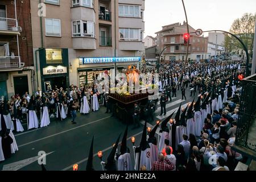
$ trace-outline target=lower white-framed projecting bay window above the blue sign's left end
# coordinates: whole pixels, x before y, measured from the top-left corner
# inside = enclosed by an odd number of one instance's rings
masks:
[[[76,20],[72,22],[73,37],[86,36],[94,38],[94,22]]]

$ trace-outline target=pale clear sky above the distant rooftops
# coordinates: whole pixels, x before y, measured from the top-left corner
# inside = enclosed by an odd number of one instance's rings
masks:
[[[235,19],[245,13],[256,13],[256,0],[184,0],[184,3],[188,24],[203,31],[229,31]],[[162,30],[162,26],[183,23],[184,20],[181,0],[146,0],[144,37],[155,37],[155,32]]]

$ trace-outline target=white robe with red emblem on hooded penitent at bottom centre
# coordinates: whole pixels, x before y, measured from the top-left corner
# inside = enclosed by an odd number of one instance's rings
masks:
[[[142,166],[146,166],[146,171],[151,170],[151,163],[150,163],[150,148],[146,148],[146,150],[141,151],[141,160],[139,162],[139,152],[136,154],[136,164],[135,170],[139,171]]]

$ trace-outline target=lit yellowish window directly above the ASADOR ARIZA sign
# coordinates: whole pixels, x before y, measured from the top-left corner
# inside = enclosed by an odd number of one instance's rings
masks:
[[[61,49],[46,49],[46,64],[62,63]]]

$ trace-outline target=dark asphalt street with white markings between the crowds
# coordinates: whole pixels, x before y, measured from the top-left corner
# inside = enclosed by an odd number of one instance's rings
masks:
[[[167,103],[167,115],[171,114],[179,107],[180,103],[186,105],[192,101],[189,97],[189,88],[186,90],[187,101],[181,100],[181,92],[177,91],[177,98]],[[159,105],[158,105],[159,107]],[[155,120],[159,117],[160,110],[155,112]],[[94,135],[94,168],[102,170],[100,159],[97,158],[97,151],[103,151],[103,159],[109,155],[112,144],[120,133],[125,130],[125,124],[118,119],[111,117],[111,114],[105,114],[105,108],[101,106],[99,111],[88,115],[77,114],[77,124],[73,125],[71,119],[65,119],[63,122],[51,121],[51,125],[46,128],[24,131],[15,135],[19,151],[11,156],[10,159],[0,163],[0,169],[8,170],[41,170],[36,156],[39,151],[45,151],[47,170],[72,170],[73,164],[79,164],[80,170],[85,170],[90,148],[90,142]],[[142,121],[143,123],[143,121]],[[149,123],[149,126],[155,123]],[[138,146],[141,141],[143,125],[138,129],[129,127],[127,136],[127,145],[130,148],[131,159],[134,163],[134,155],[131,137],[136,137],[135,144]],[[22,161],[23,160],[23,161]],[[22,161],[22,162],[20,162]],[[18,162],[19,164],[17,164]]]

